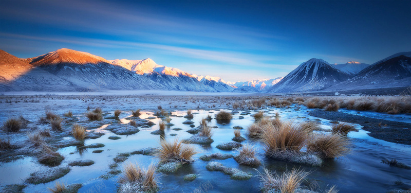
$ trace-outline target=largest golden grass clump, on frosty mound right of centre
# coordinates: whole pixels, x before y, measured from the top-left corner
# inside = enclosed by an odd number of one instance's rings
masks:
[[[262,130],[261,139],[267,154],[300,151],[309,139],[308,132],[292,121],[283,122],[279,127],[266,125],[262,127]]]

